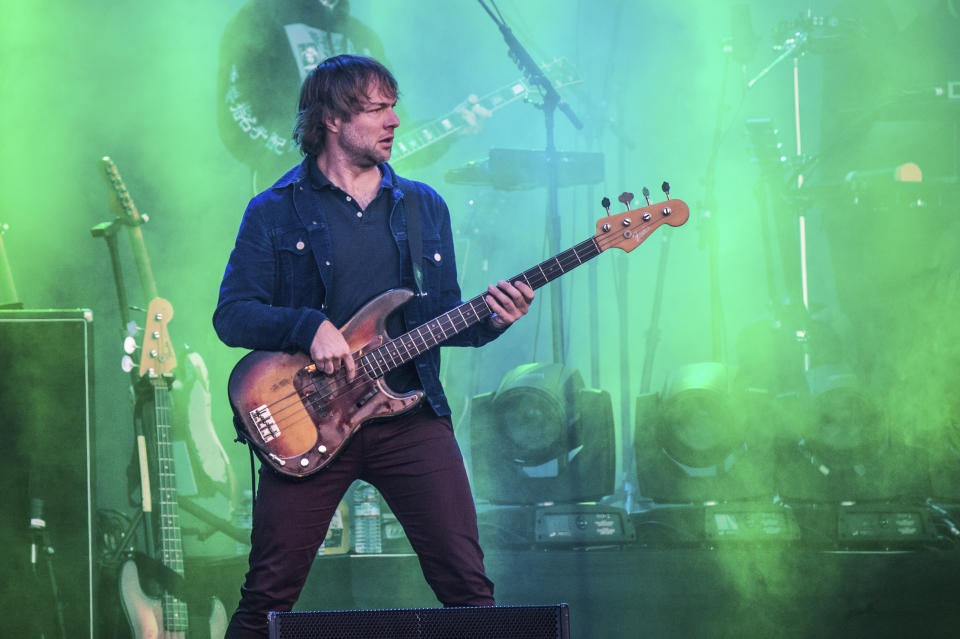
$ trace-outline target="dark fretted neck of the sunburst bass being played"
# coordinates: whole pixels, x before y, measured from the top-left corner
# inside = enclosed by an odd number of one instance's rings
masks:
[[[601,250],[596,238],[591,237],[573,248],[540,262],[508,281],[522,281],[536,290],[595,258],[601,253]],[[382,377],[421,353],[486,319],[491,312],[485,295],[478,295],[469,302],[464,302],[443,315],[370,351],[360,358],[360,363],[371,377]]]

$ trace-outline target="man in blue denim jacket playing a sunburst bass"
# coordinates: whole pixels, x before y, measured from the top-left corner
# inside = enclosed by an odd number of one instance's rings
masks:
[[[317,66],[301,88],[294,132],[305,159],[250,202],[227,264],[213,318],[220,338],[230,346],[283,352],[267,353],[266,361],[276,355],[307,364],[298,364],[299,373],[290,378],[280,375],[271,389],[289,390],[284,397],[297,400],[297,410],[347,433],[329,447],[323,443],[327,434],[320,433],[321,443],[311,443],[312,456],[300,455],[295,463],[254,446],[265,463],[250,567],[228,638],[266,637],[267,612],[291,609],[336,507],[356,479],[381,492],[441,603],[494,603],[440,384],[439,349],[397,353],[401,364],[381,370],[361,357],[365,342],[350,343],[356,341],[351,335],[370,333],[351,332],[365,322],[397,335],[461,304],[446,204],[387,164],[399,125],[396,99],[396,80],[372,58],[340,55]],[[402,308],[380,304],[371,310],[376,303],[368,302],[394,289],[414,295]],[[484,296],[489,317],[449,340],[427,328],[436,341],[480,346],[526,314],[533,297],[525,283],[500,281]],[[237,409],[242,402],[234,394],[244,395],[246,380],[237,369],[234,378],[231,401]],[[311,397],[320,397],[323,407]],[[371,406],[380,406],[379,412],[368,411]],[[254,409],[237,413],[241,421],[256,418],[252,430],[261,435],[259,444],[300,428],[290,424],[286,430],[285,407],[273,413],[267,404]],[[377,419],[367,420],[369,414]]]

